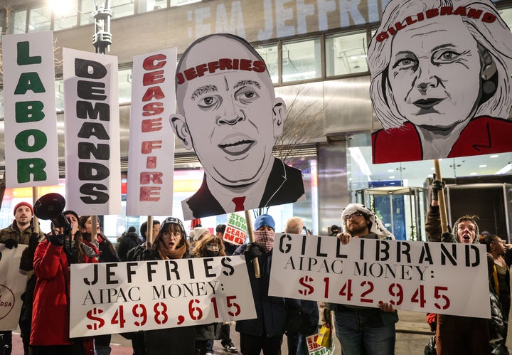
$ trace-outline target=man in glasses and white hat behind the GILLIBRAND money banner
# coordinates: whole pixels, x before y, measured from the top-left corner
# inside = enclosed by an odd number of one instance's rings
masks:
[[[395,239],[378,216],[360,203],[350,203],[341,213],[343,232],[337,237],[346,244],[351,238]],[[398,314],[388,303],[376,307],[348,304],[334,306],[336,337],[343,355],[395,354],[395,322]]]

